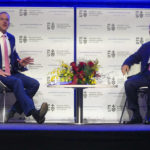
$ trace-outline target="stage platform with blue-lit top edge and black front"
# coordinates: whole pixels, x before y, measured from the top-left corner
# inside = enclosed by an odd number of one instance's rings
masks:
[[[150,147],[150,125],[0,124],[0,150],[134,150]]]

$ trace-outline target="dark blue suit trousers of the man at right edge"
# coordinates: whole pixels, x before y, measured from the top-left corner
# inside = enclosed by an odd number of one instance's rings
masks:
[[[128,102],[128,108],[138,110],[138,89],[143,86],[150,87],[150,79],[144,73],[129,77],[125,82],[125,92]],[[150,90],[148,90],[147,108],[150,110]]]

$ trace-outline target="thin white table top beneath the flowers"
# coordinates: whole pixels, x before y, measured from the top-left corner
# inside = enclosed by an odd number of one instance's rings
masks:
[[[97,84],[97,85],[81,85],[81,84],[73,84],[73,85],[47,85],[50,88],[114,88],[116,86],[106,85],[106,84]]]

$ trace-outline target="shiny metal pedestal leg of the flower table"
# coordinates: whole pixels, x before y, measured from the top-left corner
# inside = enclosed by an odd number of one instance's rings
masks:
[[[83,88],[76,89],[76,116],[75,123],[83,123]]]

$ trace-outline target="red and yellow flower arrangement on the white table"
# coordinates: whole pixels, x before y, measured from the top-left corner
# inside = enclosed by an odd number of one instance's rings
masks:
[[[98,73],[98,60],[70,63],[70,66],[61,63],[60,67],[50,73],[49,81],[69,84],[96,84],[96,78],[100,77]]]

